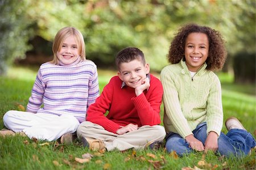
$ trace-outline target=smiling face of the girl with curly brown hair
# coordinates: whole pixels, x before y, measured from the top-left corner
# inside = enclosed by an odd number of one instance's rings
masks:
[[[185,42],[185,62],[189,71],[197,72],[207,60],[209,40],[206,34],[193,32]]]

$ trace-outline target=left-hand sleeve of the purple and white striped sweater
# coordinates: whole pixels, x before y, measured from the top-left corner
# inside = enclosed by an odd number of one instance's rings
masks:
[[[36,113],[40,109],[43,103],[44,89],[46,84],[42,80],[42,73],[39,69],[38,74],[36,75],[36,80],[32,88],[31,96],[28,99],[27,111],[31,113]]]

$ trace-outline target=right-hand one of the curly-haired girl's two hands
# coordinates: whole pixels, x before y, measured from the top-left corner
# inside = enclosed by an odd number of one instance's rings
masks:
[[[207,153],[208,150],[212,150],[213,152],[216,152],[218,149],[218,135],[216,132],[210,131],[209,135],[207,136],[207,139],[205,140],[205,150],[204,152]]]

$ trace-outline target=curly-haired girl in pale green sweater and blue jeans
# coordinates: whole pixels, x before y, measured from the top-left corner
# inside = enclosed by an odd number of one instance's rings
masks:
[[[220,32],[187,24],[170,45],[168,61],[162,69],[166,149],[178,155],[193,150],[212,150],[221,155],[247,155],[255,146],[253,136],[237,118],[223,122],[221,84],[212,71],[225,63],[226,50]]]

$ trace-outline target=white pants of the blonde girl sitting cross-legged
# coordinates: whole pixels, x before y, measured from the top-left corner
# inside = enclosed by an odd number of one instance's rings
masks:
[[[10,110],[3,115],[4,125],[14,132],[23,131],[28,138],[57,140],[67,132],[75,132],[79,121],[71,115],[52,115]]]

